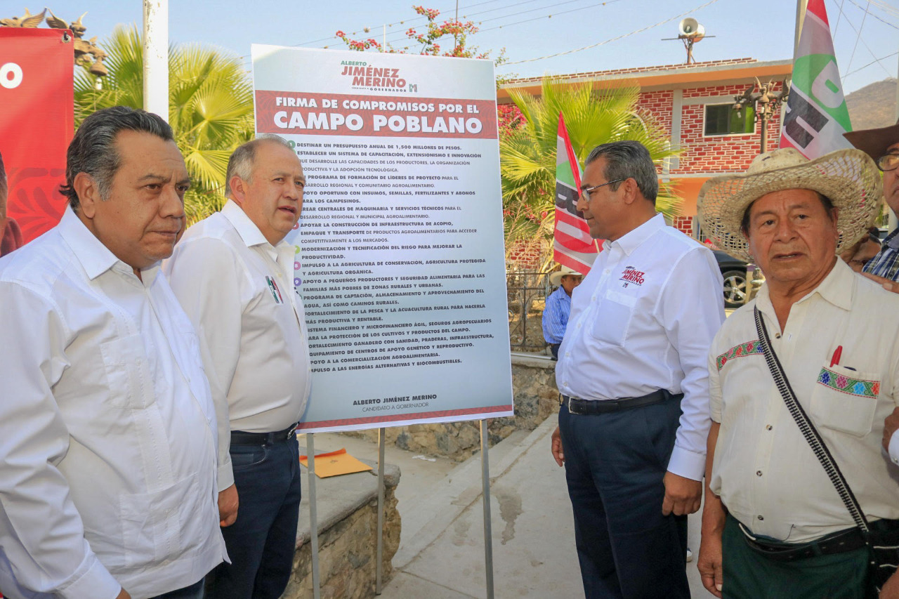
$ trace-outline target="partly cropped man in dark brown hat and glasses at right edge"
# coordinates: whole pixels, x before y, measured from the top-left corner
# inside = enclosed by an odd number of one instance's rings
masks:
[[[843,137],[877,161],[884,173],[884,199],[890,210],[899,215],[899,121],[892,127],[843,133]],[[864,273],[883,283],[890,291],[899,292],[899,229],[884,240],[880,253],[865,264]]]

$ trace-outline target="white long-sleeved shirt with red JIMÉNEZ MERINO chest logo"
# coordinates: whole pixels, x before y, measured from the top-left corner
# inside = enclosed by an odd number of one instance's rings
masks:
[[[708,248],[656,214],[607,242],[574,288],[556,365],[556,385],[574,398],[683,393],[668,470],[693,480],[706,467],[706,360],[725,318],[722,288]]]

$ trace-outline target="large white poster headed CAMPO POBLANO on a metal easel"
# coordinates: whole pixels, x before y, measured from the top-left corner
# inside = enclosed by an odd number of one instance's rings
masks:
[[[254,45],[307,186],[294,285],[324,432],[512,416],[494,64]]]

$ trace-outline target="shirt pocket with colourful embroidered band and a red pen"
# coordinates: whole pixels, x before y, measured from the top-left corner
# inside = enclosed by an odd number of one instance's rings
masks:
[[[863,437],[871,432],[880,380],[843,366],[822,367],[812,390],[811,415],[816,425]]]

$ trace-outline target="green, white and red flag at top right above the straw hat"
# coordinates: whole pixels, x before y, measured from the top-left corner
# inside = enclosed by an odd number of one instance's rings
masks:
[[[827,9],[824,0],[809,0],[793,57],[793,85],[780,128],[780,148],[796,148],[814,160],[851,148],[842,136],[851,130]]]

